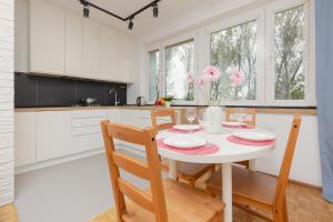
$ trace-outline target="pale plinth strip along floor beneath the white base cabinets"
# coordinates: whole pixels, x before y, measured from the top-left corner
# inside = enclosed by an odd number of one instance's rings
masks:
[[[14,169],[14,174],[26,173],[26,172],[29,172],[32,170],[38,170],[38,169],[42,169],[42,168],[47,168],[47,167],[51,167],[51,165],[65,163],[65,162],[70,162],[73,160],[79,160],[82,158],[101,154],[103,152],[104,152],[104,148],[101,148],[98,150],[91,150],[91,151],[87,151],[87,152],[82,152],[82,153],[77,153],[77,154],[65,155],[65,157],[51,159],[51,160],[47,160],[47,161],[41,161],[41,162],[32,163],[29,165],[17,167]]]

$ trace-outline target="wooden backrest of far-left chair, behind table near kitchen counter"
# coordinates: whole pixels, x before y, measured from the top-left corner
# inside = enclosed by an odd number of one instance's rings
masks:
[[[158,123],[159,118],[170,118],[170,122]],[[172,109],[168,110],[152,110],[151,111],[151,123],[152,127],[157,130],[167,130],[176,124],[175,122],[175,112]]]

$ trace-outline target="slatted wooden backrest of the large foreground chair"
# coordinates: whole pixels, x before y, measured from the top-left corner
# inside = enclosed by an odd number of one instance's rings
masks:
[[[124,195],[127,195],[134,203],[154,213],[155,221],[167,222],[168,215],[155,141],[155,130],[152,128],[138,129],[130,125],[110,123],[108,120],[102,121],[101,127],[118,221],[123,221],[122,219],[128,215],[124,201]],[[114,149],[113,139],[144,147],[147,163],[119,153]],[[141,189],[121,178],[119,168],[150,181],[151,195],[148,195]]]

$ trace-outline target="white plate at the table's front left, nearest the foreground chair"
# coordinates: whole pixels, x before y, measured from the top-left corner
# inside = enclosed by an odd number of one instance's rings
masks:
[[[163,140],[167,145],[189,149],[204,145],[206,143],[203,138],[194,138],[194,137],[171,137]]]

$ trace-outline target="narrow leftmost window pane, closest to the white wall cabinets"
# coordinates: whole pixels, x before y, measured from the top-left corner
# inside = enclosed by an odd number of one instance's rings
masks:
[[[149,70],[150,70],[150,101],[155,101],[159,97],[160,85],[160,50],[149,52]]]

